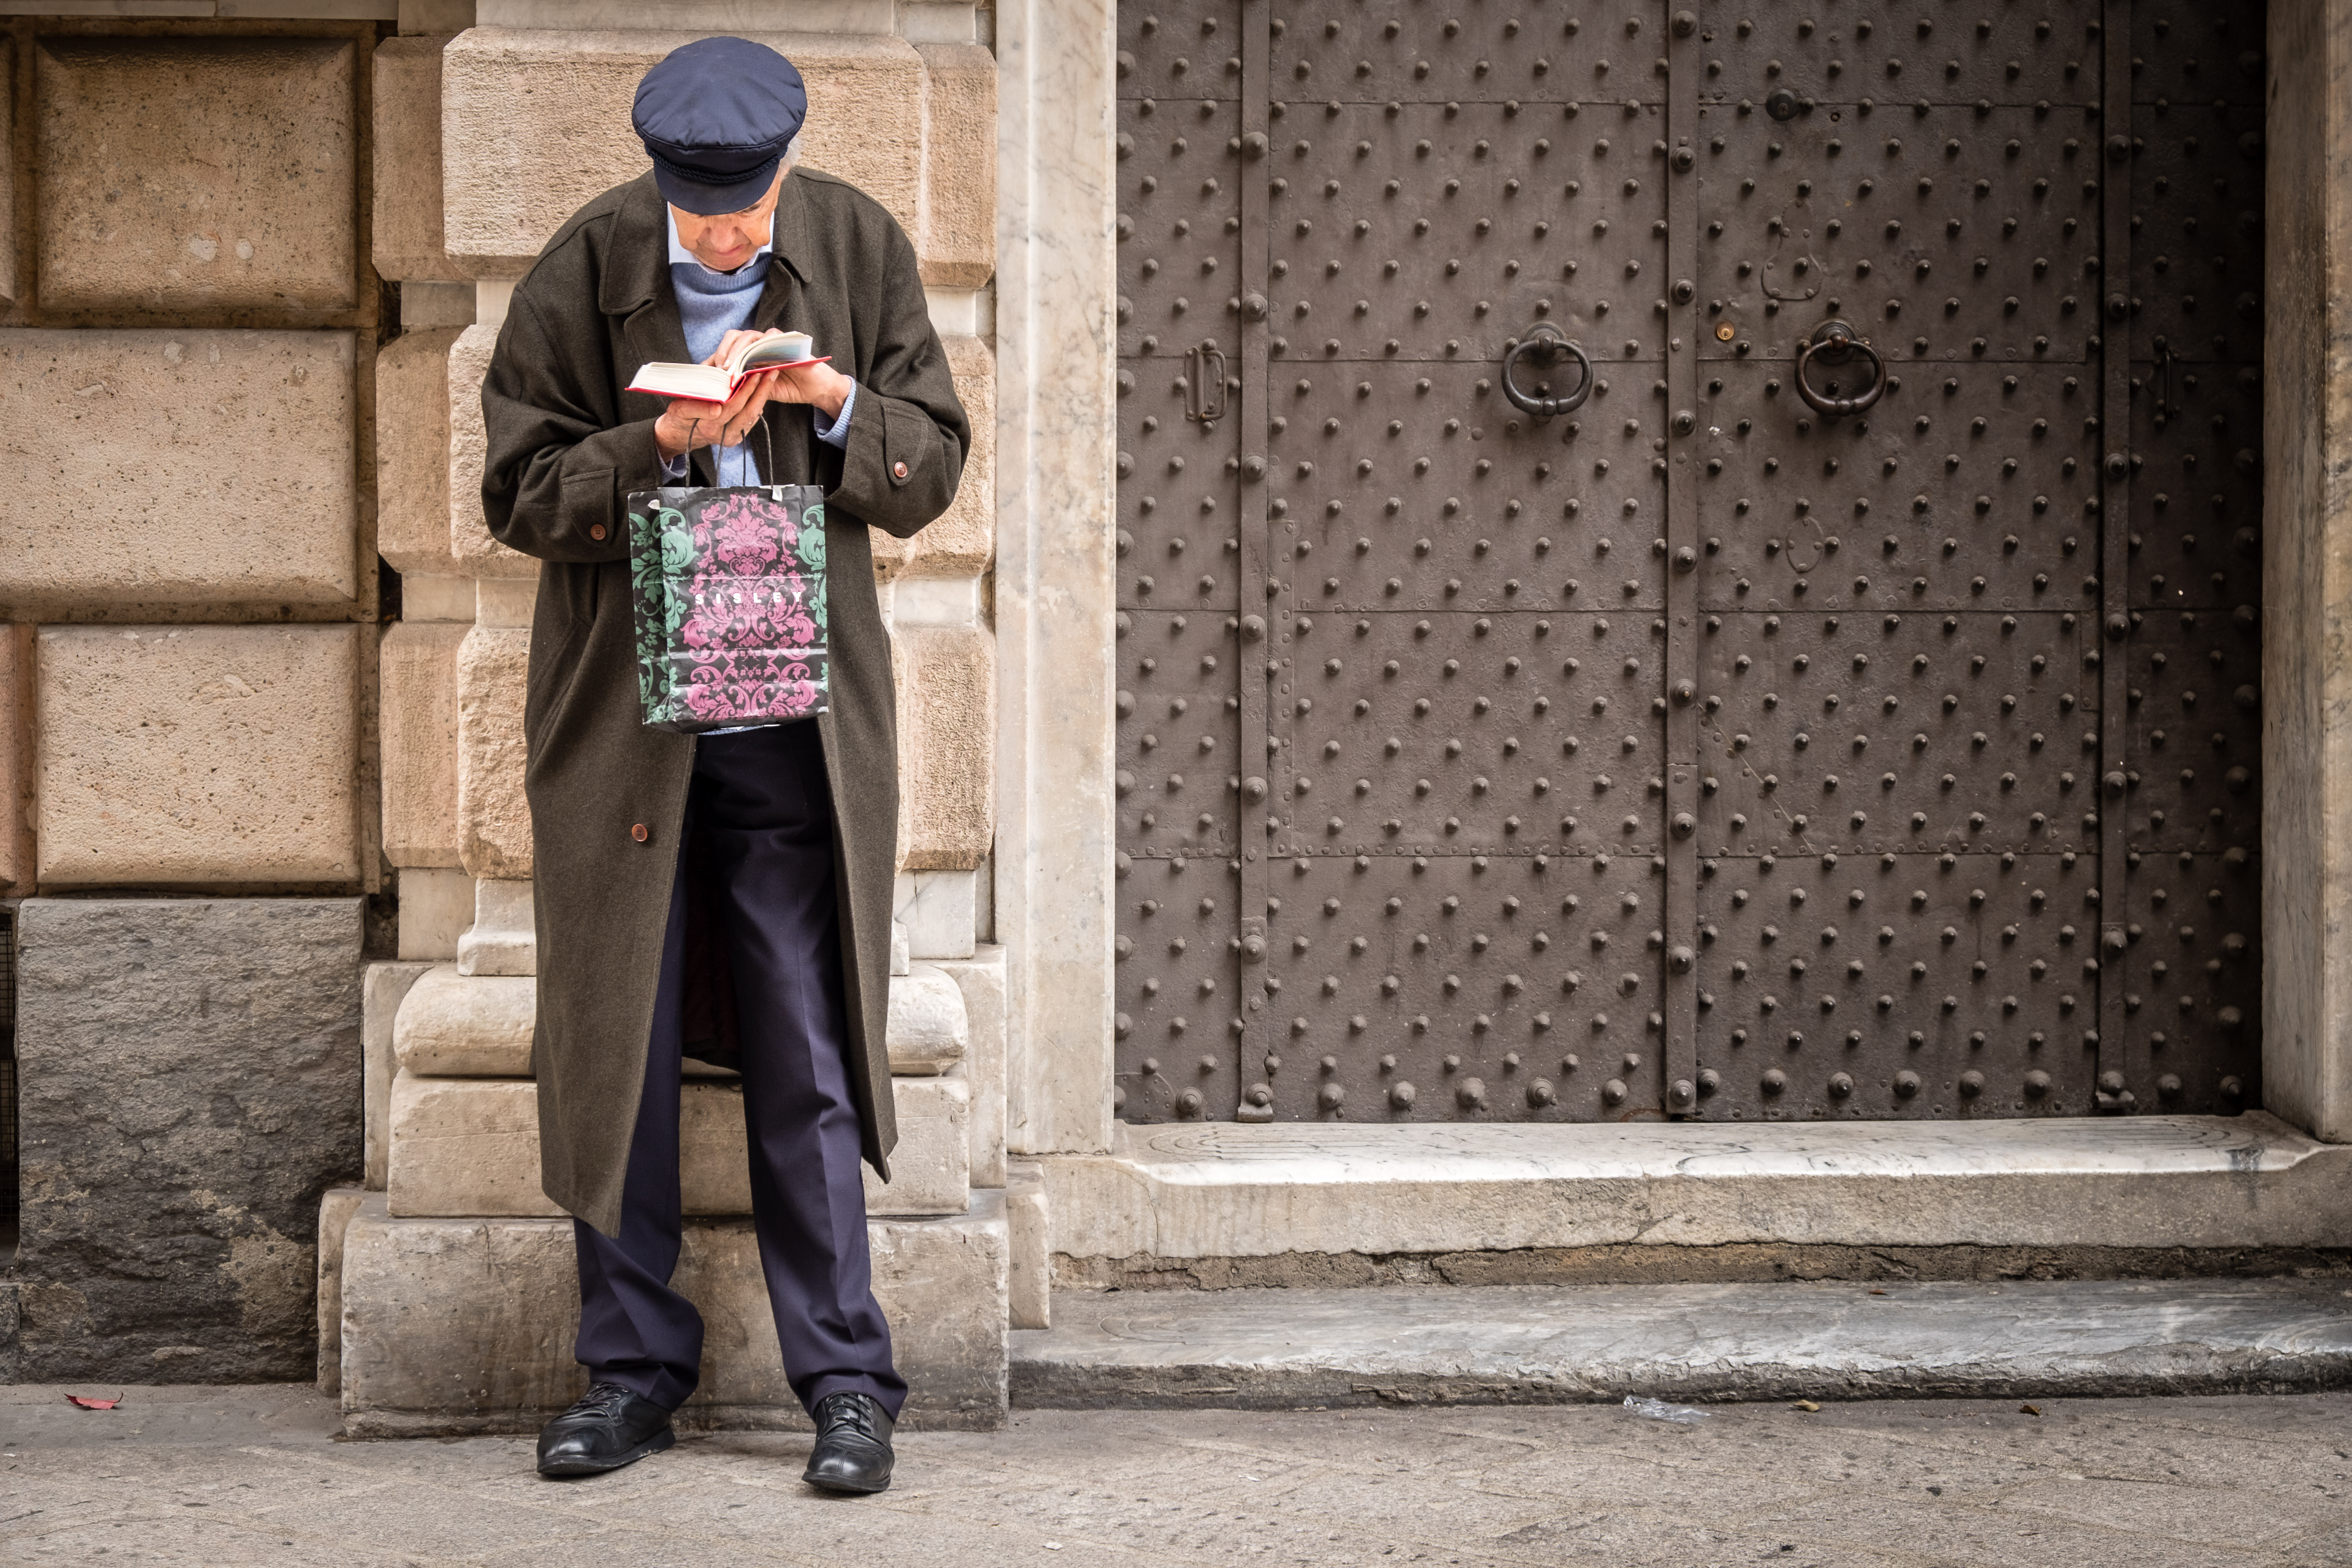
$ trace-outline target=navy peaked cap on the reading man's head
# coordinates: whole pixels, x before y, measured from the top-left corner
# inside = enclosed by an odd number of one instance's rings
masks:
[[[807,113],[793,61],[748,38],[699,38],[644,73],[630,122],[663,200],[710,216],[767,195]]]

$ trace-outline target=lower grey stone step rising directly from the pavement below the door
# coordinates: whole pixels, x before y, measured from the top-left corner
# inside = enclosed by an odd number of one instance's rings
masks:
[[[2058,1399],[2352,1387],[2352,1279],[1054,1295],[1028,1408]]]

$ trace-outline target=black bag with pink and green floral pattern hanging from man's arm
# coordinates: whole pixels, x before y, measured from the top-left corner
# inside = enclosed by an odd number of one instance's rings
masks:
[[[654,729],[826,710],[826,491],[675,487],[628,498],[637,691]]]

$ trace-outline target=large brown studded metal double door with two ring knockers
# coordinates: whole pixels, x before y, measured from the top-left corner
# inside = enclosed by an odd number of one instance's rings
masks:
[[[1122,1117],[2253,1103],[2258,9],[1120,31]]]

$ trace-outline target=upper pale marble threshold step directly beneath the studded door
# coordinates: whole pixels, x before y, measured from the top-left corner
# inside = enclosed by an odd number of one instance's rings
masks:
[[[2110,1255],[2110,1267],[2093,1260],[2065,1267],[2067,1274],[2166,1272],[2126,1262],[2119,1248],[2209,1255],[2352,1248],[2352,1145],[2317,1143],[2265,1112],[1566,1126],[1120,1124],[1108,1152],[1044,1157],[1040,1178],[1056,1288],[1435,1284],[1430,1274],[1367,1274],[1364,1265],[1573,1248],[1618,1248],[1658,1262],[1682,1253],[1684,1265],[1700,1248],[1755,1246]],[[2176,1272],[2265,1274],[2303,1262]],[[1606,1276],[1484,1269],[1449,1279],[1668,1284],[1738,1274],[1628,1265]]]

